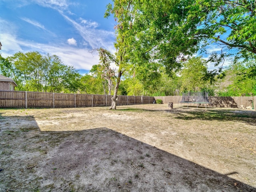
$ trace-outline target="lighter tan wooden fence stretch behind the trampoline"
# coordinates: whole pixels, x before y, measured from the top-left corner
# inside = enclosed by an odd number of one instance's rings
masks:
[[[193,104],[184,104],[180,103],[182,96],[155,96],[155,99],[162,99],[164,104],[168,102],[173,102],[173,104],[180,105],[193,105]],[[241,105],[247,107],[252,106],[252,100],[254,104],[254,109],[256,110],[256,96],[250,97],[208,97],[208,100],[211,104],[208,106],[212,107],[224,107],[224,108],[240,108]],[[204,105],[204,104],[202,104]]]

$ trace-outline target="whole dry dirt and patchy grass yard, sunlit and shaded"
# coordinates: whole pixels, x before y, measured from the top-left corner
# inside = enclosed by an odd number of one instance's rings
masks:
[[[0,192],[256,191],[256,111],[0,109]]]

